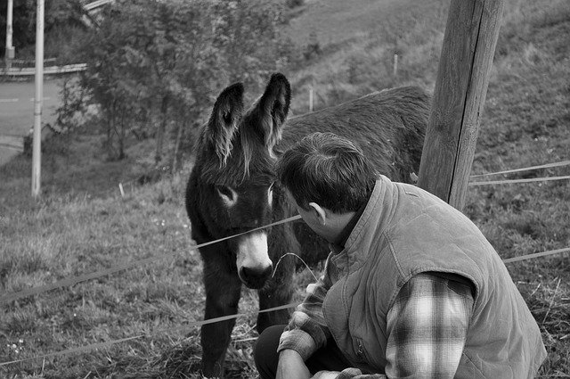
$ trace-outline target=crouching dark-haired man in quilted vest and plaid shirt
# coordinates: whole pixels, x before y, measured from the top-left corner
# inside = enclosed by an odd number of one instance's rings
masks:
[[[546,357],[538,325],[460,211],[377,176],[358,147],[332,134],[302,139],[277,173],[331,253],[289,325],[260,335],[262,378],[536,374]]]

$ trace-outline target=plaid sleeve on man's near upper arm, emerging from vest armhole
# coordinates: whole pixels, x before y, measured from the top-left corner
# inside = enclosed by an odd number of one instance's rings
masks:
[[[452,378],[472,308],[468,284],[432,274],[413,276],[387,314],[387,377]]]

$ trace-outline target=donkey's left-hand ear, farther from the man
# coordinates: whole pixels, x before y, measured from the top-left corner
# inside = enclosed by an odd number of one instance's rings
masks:
[[[232,138],[243,113],[243,84],[235,83],[217,96],[208,120],[209,141],[223,166],[232,151]]]

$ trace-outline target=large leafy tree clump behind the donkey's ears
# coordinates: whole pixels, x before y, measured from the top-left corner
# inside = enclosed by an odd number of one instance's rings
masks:
[[[156,137],[157,165],[169,129],[176,128],[172,150],[180,151],[214,89],[236,80],[258,86],[287,64],[280,22],[278,6],[246,0],[110,7],[85,43],[82,80],[102,110],[110,158],[124,158],[127,131]]]

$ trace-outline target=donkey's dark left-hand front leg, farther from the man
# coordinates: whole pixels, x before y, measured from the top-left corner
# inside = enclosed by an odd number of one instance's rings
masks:
[[[234,315],[238,312],[241,282],[235,273],[205,271],[206,314],[204,319]],[[224,376],[225,352],[230,343],[235,318],[202,325],[202,374]]]

